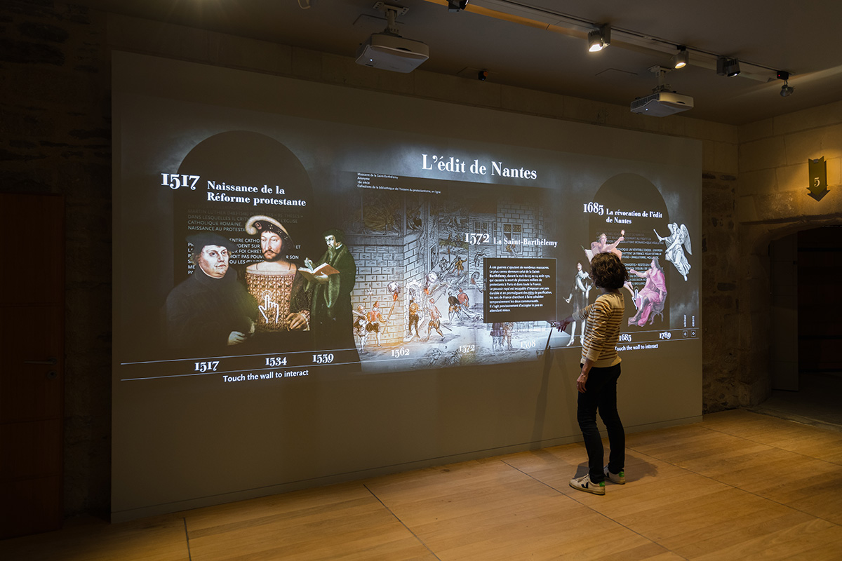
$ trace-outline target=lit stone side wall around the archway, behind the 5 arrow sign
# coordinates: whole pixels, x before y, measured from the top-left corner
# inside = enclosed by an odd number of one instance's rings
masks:
[[[739,405],[770,393],[770,241],[798,230],[842,224],[842,102],[739,127]],[[810,197],[808,163],[824,157],[829,193]]]

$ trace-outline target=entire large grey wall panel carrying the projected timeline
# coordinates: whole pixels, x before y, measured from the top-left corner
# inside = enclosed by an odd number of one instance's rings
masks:
[[[569,441],[582,325],[548,322],[600,251],[626,425],[701,415],[698,143],[119,52],[114,82],[115,518]]]

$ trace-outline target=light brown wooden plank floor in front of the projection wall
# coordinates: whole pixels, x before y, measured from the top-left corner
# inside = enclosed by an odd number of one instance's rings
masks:
[[[582,444],[0,542],[4,561],[840,559],[842,432],[745,410],[630,434],[625,486]]]

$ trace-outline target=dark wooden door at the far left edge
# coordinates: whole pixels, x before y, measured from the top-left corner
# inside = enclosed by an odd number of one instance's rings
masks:
[[[0,539],[61,527],[64,199],[0,193]]]

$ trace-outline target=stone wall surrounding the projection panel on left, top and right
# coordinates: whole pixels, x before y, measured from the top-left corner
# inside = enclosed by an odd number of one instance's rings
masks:
[[[738,128],[727,124],[653,119],[627,107],[420,70],[371,71],[349,57],[50,0],[4,0],[0,30],[0,189],[67,198],[68,515],[109,511],[109,48],[701,140],[706,411],[756,403],[768,393],[758,344],[768,329],[764,244],[787,227],[832,222],[839,213],[838,204],[834,217],[817,210],[831,207],[833,191],[813,204],[795,187],[802,160],[821,155],[811,142],[818,151],[836,147],[829,175],[839,185],[838,127],[815,113],[742,127],[738,151]],[[840,107],[828,110],[838,116]]]

